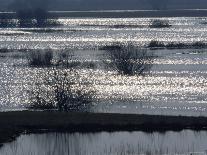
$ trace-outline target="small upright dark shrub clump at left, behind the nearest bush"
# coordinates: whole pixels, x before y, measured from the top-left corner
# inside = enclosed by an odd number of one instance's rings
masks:
[[[52,65],[53,52],[51,50],[33,50],[28,52],[28,63],[33,67],[48,67]]]

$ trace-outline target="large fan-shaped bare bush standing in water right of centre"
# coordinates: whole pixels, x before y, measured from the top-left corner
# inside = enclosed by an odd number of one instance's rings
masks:
[[[127,45],[115,44],[103,49],[106,49],[109,56],[107,64],[115,68],[120,74],[143,75],[152,67],[153,53],[132,43]]]

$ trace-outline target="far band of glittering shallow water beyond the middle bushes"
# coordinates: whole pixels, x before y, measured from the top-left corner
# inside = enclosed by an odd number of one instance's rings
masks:
[[[149,28],[154,19],[168,20],[170,28]],[[207,18],[62,18],[59,27],[0,29],[0,47],[12,49],[94,48],[111,42],[146,44],[207,41]],[[38,33],[42,31],[42,33]]]

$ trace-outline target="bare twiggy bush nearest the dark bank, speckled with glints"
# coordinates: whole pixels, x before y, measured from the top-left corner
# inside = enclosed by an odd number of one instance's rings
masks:
[[[85,111],[91,106],[94,90],[79,83],[73,70],[53,69],[46,74],[44,83],[36,85],[31,92],[29,109],[59,111]]]

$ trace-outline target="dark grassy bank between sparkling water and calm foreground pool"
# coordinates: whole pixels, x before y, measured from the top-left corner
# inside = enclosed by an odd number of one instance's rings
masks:
[[[99,132],[146,131],[164,132],[183,129],[206,130],[207,117],[150,116],[135,114],[2,112],[0,144],[27,131],[36,132]]]

